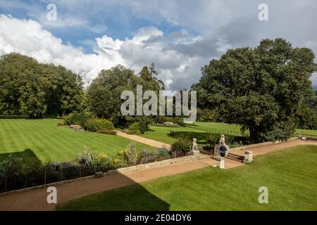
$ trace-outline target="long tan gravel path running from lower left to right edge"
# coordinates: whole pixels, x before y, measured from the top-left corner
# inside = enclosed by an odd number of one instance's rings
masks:
[[[270,153],[274,150],[281,150],[292,146],[315,145],[317,141],[290,141],[271,146],[262,146],[251,148],[254,155]],[[235,153],[242,155],[244,150]],[[85,195],[107,191],[113,188],[119,188],[130,184],[140,183],[163,176],[171,176],[183,172],[189,172],[194,169],[201,169],[208,166],[216,165],[216,160],[212,160],[209,155],[201,155],[201,160],[190,162],[179,162],[172,165],[163,165],[151,169],[142,169],[137,172],[127,172],[125,174],[111,174],[101,178],[77,180],[71,183],[60,184],[57,188],[57,201],[64,203],[68,200],[80,198]],[[230,169],[243,165],[240,162],[225,159],[225,167]],[[46,188],[40,188],[23,193],[14,193],[0,197],[0,210],[55,210],[55,204],[46,202]]]

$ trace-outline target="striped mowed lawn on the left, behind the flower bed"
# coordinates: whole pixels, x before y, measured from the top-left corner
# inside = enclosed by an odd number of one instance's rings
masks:
[[[68,127],[58,127],[58,119],[0,119],[0,160],[8,153],[20,157],[35,156],[42,161],[73,160],[89,147],[92,152],[111,155],[126,148],[130,140],[120,136],[80,133]],[[136,142],[137,150],[151,148]],[[30,149],[30,150],[27,150]]]

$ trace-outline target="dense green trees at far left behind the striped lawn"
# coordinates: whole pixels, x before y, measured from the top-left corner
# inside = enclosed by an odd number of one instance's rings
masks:
[[[80,109],[82,78],[62,66],[10,53],[0,58],[0,114],[62,115]]]

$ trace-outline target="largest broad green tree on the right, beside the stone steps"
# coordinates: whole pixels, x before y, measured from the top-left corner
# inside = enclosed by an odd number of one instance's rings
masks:
[[[224,122],[249,129],[254,141],[287,139],[294,117],[313,94],[311,49],[285,39],[264,39],[256,48],[227,51],[201,69],[198,105],[216,109]]]

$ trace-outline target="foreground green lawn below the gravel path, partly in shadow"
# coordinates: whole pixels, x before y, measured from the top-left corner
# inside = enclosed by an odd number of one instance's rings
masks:
[[[57,210],[317,210],[317,146],[256,156],[250,165],[208,167],[89,195]],[[268,204],[259,204],[259,187]]]

